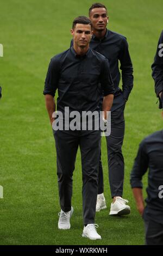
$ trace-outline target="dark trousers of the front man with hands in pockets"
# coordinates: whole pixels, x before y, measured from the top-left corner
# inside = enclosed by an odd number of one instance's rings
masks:
[[[57,175],[60,206],[71,210],[72,176],[78,147],[82,157],[83,220],[95,223],[98,192],[98,165],[101,149],[101,131],[53,131],[57,150]]]

